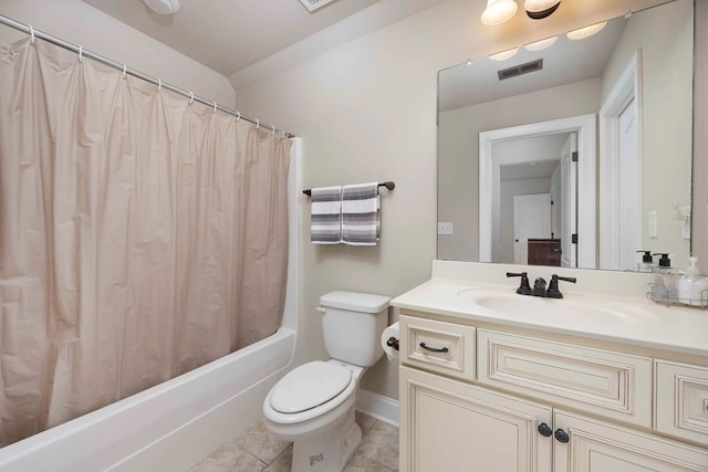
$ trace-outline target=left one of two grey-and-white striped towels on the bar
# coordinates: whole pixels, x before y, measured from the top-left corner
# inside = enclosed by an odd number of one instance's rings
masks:
[[[314,244],[342,242],[342,186],[313,188],[310,208],[310,241]]]

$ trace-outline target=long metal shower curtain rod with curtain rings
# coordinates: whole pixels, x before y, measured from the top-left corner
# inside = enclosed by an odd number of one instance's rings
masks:
[[[92,60],[94,60],[96,62],[100,62],[100,63],[102,63],[104,65],[111,66],[113,69],[117,69],[118,71],[122,71],[122,72],[124,72],[126,74],[131,74],[131,75],[133,75],[135,77],[138,77],[138,78],[142,78],[144,81],[150,82],[150,83],[153,83],[153,84],[155,84],[155,85],[157,85],[157,86],[159,86],[162,88],[167,88],[168,91],[175,92],[175,93],[177,93],[177,94],[179,94],[179,95],[181,95],[181,96],[184,96],[186,98],[189,98],[190,102],[196,101],[196,102],[199,102],[201,104],[212,106],[215,108],[215,111],[219,109],[219,111],[221,111],[223,113],[227,113],[229,115],[236,116],[237,118],[246,119],[247,122],[254,124],[257,126],[257,128],[258,127],[263,127],[263,128],[270,129],[273,133],[281,134],[287,138],[294,138],[295,137],[295,135],[293,135],[292,133],[288,133],[284,129],[277,128],[275,126],[269,125],[268,123],[263,123],[263,122],[261,122],[259,119],[251,118],[251,117],[246,116],[246,115],[241,115],[240,112],[236,112],[236,111],[233,111],[231,108],[227,108],[225,106],[221,106],[221,105],[217,104],[216,102],[210,102],[210,101],[208,101],[206,98],[197,96],[197,95],[195,95],[194,93],[191,93],[189,91],[185,91],[183,88],[179,88],[179,87],[176,87],[176,86],[170,85],[168,83],[165,83],[160,78],[155,78],[155,77],[153,77],[150,75],[147,75],[147,74],[144,74],[144,73],[142,73],[139,71],[136,71],[134,69],[131,69],[125,64],[117,63],[117,62],[112,61],[112,60],[110,60],[107,57],[104,57],[104,56],[102,56],[100,54],[93,53],[91,51],[86,51],[86,50],[83,49],[83,46],[77,46],[77,45],[67,43],[66,41],[60,40],[59,38],[52,36],[51,34],[46,34],[46,33],[44,33],[42,31],[35,30],[35,29],[32,28],[31,24],[20,23],[19,21],[14,21],[11,18],[8,18],[8,17],[2,15],[2,14],[0,14],[0,24],[4,24],[6,27],[10,27],[10,28],[14,28],[15,30],[23,31],[23,32],[28,33],[30,36],[32,36],[32,39],[39,38],[39,39],[48,41],[48,42],[50,42],[52,44],[56,44],[58,46],[64,48],[64,49],[66,49],[69,51],[75,52],[79,55],[81,55],[82,57],[92,59]]]

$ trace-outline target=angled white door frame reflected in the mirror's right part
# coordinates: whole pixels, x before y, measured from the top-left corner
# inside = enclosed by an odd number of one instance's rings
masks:
[[[633,99],[636,104],[637,129],[637,167],[642,169],[643,156],[643,106],[642,106],[642,50],[635,51],[627,62],[622,75],[607,95],[600,108],[600,269],[620,268],[620,231],[622,230],[622,214],[617,201],[620,200],[620,115]],[[638,176],[637,208],[642,208],[642,176]],[[641,211],[637,249],[642,249]]]

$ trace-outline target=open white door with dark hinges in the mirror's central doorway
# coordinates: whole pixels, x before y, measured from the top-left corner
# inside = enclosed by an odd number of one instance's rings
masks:
[[[577,266],[577,244],[573,234],[577,234],[577,162],[573,154],[577,153],[577,136],[571,133],[561,150],[561,193],[563,209],[561,216],[561,266]],[[594,214],[589,218],[595,218]],[[581,238],[582,235],[577,235]]]

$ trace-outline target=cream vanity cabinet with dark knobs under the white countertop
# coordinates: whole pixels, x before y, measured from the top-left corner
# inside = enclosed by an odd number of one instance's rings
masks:
[[[399,316],[402,472],[708,472],[708,369],[435,317]]]

